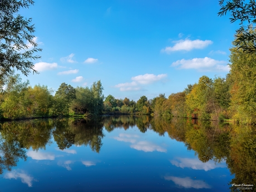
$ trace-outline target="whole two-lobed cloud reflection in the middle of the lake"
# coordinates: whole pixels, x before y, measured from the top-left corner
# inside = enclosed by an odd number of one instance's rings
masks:
[[[136,149],[139,151],[144,152],[152,152],[152,151],[159,151],[159,152],[166,152],[167,150],[163,147],[156,145],[149,141],[140,141],[139,135],[133,135],[133,134],[119,134],[118,137],[114,137],[117,141],[124,141],[124,142],[130,142],[132,145],[130,147],[132,149]]]

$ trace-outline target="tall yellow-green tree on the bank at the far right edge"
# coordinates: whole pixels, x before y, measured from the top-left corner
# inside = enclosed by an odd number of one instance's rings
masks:
[[[230,49],[231,110],[234,119],[256,123],[256,53],[244,54],[236,47]]]

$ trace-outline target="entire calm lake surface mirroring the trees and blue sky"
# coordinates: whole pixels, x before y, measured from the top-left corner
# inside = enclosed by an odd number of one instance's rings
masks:
[[[1,125],[0,191],[250,191],[254,127],[149,116]],[[253,186],[253,191],[256,189]]]

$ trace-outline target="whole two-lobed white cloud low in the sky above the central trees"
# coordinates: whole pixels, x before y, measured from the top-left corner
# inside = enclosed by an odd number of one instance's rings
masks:
[[[115,87],[120,88],[120,91],[138,91],[142,89],[140,85],[161,81],[165,77],[167,77],[166,74],[154,75],[146,73],[145,75],[131,77],[132,82],[119,83]]]

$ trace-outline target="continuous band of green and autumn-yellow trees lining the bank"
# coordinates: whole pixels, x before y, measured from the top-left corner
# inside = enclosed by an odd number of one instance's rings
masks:
[[[45,85],[29,85],[19,75],[9,77],[1,95],[1,117],[22,119],[68,115],[151,114],[191,119],[256,123],[256,53],[230,49],[230,72],[225,78],[207,76],[168,98],[141,96],[138,101],[104,97],[101,81],[91,87],[62,83],[53,91]]]

